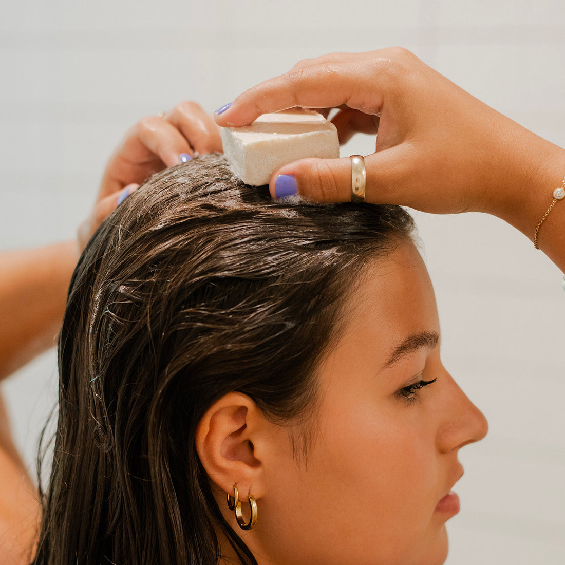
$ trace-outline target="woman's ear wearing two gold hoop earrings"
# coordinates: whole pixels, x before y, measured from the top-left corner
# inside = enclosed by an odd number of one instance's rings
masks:
[[[208,476],[224,492],[233,494],[237,483],[240,498],[263,496],[264,467],[255,444],[262,442],[269,425],[245,394],[226,394],[208,408],[198,424],[195,446]]]

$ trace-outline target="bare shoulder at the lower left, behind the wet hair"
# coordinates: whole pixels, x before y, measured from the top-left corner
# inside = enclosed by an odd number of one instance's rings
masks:
[[[12,442],[0,397],[0,563],[30,563],[37,539],[37,490]]]

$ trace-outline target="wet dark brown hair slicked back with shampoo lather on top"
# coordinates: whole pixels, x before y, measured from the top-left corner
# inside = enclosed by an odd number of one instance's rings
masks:
[[[273,202],[206,155],[158,173],[95,233],[59,339],[59,419],[34,563],[218,562],[223,519],[194,436],[238,391],[315,414],[345,290],[410,237],[396,206]]]

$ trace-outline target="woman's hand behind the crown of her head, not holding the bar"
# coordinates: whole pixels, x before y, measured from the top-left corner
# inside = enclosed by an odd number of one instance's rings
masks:
[[[86,242],[114,208],[153,173],[221,151],[219,127],[196,102],[181,102],[163,116],[147,116],[124,137],[107,164],[92,214],[79,228]]]

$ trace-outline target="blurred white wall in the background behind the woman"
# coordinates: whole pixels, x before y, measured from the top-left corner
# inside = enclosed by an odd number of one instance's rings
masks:
[[[106,159],[142,116],[189,98],[212,112],[299,59],[332,51],[407,47],[565,146],[563,0],[7,0],[2,12],[2,249],[74,237]],[[342,155],[371,153],[373,142],[362,136]],[[562,275],[497,219],[418,213],[416,221],[444,362],[490,423],[489,436],[461,453],[462,511],[449,523],[447,563],[562,564]],[[33,467],[56,401],[54,351],[2,390]]]

